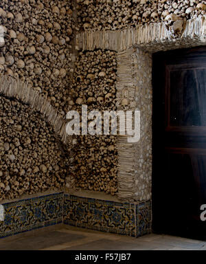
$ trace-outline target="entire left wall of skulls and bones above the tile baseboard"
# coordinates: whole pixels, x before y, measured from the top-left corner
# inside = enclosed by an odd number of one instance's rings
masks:
[[[18,80],[29,83],[38,92],[38,98],[47,100],[42,107],[52,104],[47,115],[50,109],[52,115],[58,114],[62,120],[69,111],[73,37],[78,31],[74,13],[73,1],[66,0],[2,0],[0,3],[4,34],[0,43],[1,74],[12,76],[17,83]],[[6,83],[5,79],[0,85]],[[8,90],[15,88],[16,83],[8,84]],[[1,88],[6,94],[7,87]],[[27,90],[20,94],[31,99]],[[65,149],[54,127],[47,122],[51,117],[34,110],[22,100],[0,95],[1,200],[61,190],[69,177],[69,148]]]

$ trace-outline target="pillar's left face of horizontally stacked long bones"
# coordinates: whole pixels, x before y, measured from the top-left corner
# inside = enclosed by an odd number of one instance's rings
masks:
[[[117,108],[120,109],[122,99],[135,98],[135,80],[133,72],[133,54],[135,49],[117,52]],[[126,94],[125,94],[126,93]],[[130,106],[130,108],[132,108]],[[133,107],[134,108],[134,107]],[[132,122],[132,120],[131,120]],[[118,197],[131,199],[135,195],[135,148],[128,143],[127,136],[117,136],[117,184]]]

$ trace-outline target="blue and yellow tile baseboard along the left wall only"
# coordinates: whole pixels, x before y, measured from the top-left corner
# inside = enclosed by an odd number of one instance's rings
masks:
[[[4,221],[0,221],[0,238],[62,223],[64,193],[2,203]]]

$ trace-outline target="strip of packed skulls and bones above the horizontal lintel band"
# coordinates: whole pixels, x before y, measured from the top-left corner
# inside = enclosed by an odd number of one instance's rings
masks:
[[[78,22],[84,30],[119,30],[137,24],[190,19],[205,14],[202,0],[77,0]]]

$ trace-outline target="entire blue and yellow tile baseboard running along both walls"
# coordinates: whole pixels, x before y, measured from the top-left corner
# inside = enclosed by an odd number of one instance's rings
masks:
[[[120,203],[58,192],[2,205],[0,238],[58,223],[134,237],[151,232],[151,201]]]

